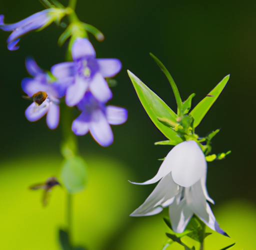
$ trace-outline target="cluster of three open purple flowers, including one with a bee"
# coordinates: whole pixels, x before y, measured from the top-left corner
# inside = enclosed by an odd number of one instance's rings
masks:
[[[90,131],[102,146],[113,141],[109,124],[121,124],[127,119],[122,107],[105,106],[112,97],[105,77],[119,72],[121,63],[114,58],[95,58],[95,50],[86,38],[77,38],[71,49],[73,61],[52,66],[50,76],[37,66],[34,60],[26,60],[27,71],[33,78],[24,78],[23,91],[33,99],[25,116],[35,121],[46,115],[46,123],[54,129],[59,122],[59,98],[65,95],[68,106],[77,106],[81,114],[73,121],[72,131],[84,135]]]

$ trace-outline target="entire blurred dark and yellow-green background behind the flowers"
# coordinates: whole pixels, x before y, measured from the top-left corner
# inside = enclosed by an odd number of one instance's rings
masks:
[[[36,0],[0,1],[6,23],[42,9]],[[255,249],[256,2],[78,0],[76,12],[80,20],[105,35],[103,42],[90,36],[97,57],[116,57],[122,62],[109,104],[126,107],[128,120],[112,126],[115,139],[107,148],[89,134],[78,138],[89,182],[75,196],[73,243],[90,250],[160,250],[167,240],[162,221],[166,210],[151,217],[128,216],[154,185],[135,186],[127,180],[151,178],[160,165],[157,159],[171,149],[153,144],[165,138],[143,110],[126,73],[132,71],[175,109],[170,85],[149,56],[152,52],[171,73],[183,100],[196,93],[193,105],[230,74],[196,129],[204,136],[221,127],[212,141],[212,152],[232,151],[225,159],[208,163],[207,176],[208,192],[216,203],[211,207],[231,238],[212,234],[205,249],[220,249],[232,242],[236,242],[233,249]],[[48,206],[42,208],[40,191],[27,187],[58,175],[61,127],[51,131],[45,118],[26,120],[29,101],[21,98],[20,82],[28,76],[27,55],[48,70],[64,60],[67,44],[57,45],[63,30],[52,23],[40,32],[28,33],[17,51],[7,50],[8,32],[0,30],[0,249],[59,249],[57,230],[65,226],[63,190],[55,188]]]

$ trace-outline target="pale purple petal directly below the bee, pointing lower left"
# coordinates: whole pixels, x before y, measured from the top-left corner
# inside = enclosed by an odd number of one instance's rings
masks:
[[[40,119],[49,109],[49,101],[46,99],[40,106],[34,102],[31,103],[25,110],[25,116],[29,121]]]

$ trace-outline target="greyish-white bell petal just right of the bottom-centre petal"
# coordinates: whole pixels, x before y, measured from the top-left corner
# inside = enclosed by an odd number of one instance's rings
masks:
[[[185,187],[185,200],[198,217],[208,221],[209,215],[206,211],[206,200],[202,191],[201,180],[190,187]]]

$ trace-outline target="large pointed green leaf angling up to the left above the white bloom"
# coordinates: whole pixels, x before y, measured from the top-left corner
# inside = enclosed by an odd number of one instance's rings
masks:
[[[132,72],[127,70],[131,82],[135,88],[138,98],[143,105],[148,116],[155,124],[155,126],[169,139],[177,141],[177,143],[182,142],[182,139],[177,135],[177,133],[162,124],[158,118],[163,118],[176,122],[177,115],[165,104],[165,102],[157,96],[151,89],[149,89],[140,79],[135,76]]]

